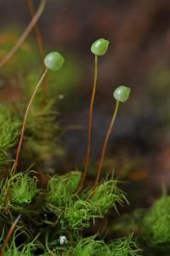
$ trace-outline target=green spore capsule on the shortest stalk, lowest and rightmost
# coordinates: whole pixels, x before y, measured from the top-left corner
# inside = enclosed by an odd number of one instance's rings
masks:
[[[115,89],[113,93],[113,97],[121,102],[125,102],[128,100],[129,94],[131,92],[131,89],[128,88],[127,86],[119,86]]]

